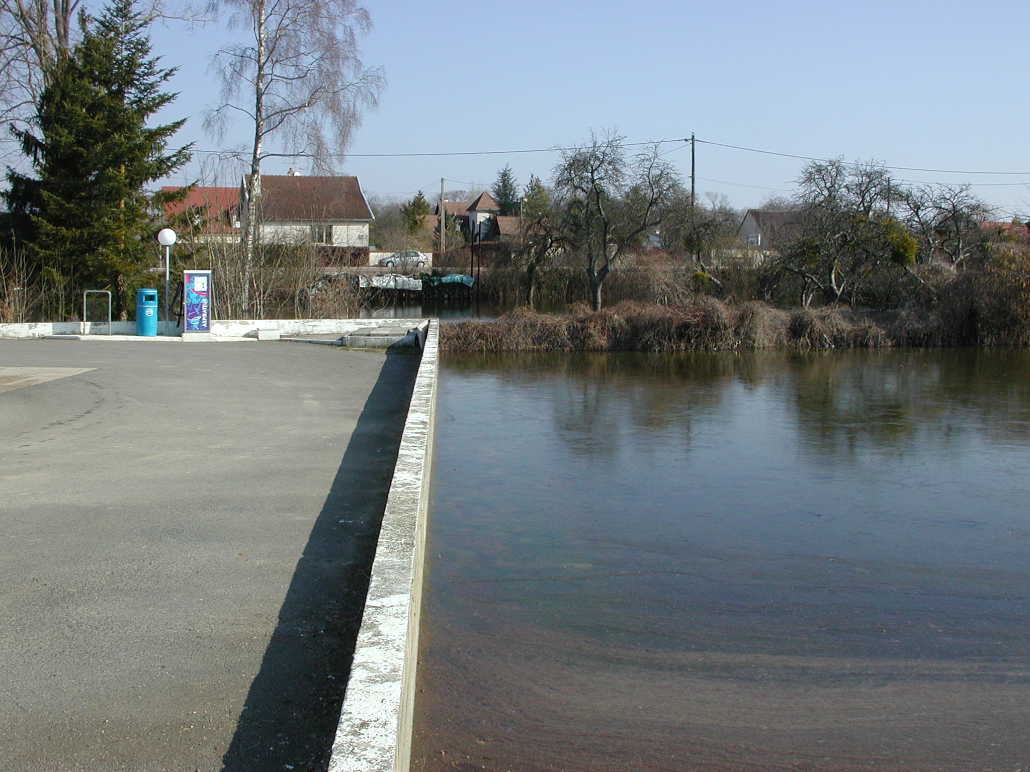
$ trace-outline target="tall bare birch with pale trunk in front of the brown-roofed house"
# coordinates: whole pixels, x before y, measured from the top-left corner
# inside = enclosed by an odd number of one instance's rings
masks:
[[[343,159],[362,110],[378,102],[381,68],[362,63],[358,37],[372,22],[355,0],[220,0],[232,11],[231,28],[246,41],[229,45],[212,59],[221,79],[221,102],[205,116],[205,128],[225,136],[234,118],[253,130],[241,219],[245,296],[260,242],[261,166],[272,156],[305,157],[318,172]],[[280,151],[269,149],[279,141]]]

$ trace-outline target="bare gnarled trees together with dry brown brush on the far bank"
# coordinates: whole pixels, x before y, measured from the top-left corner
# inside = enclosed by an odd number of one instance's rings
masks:
[[[648,157],[633,162],[633,177],[595,138],[566,153],[555,184],[523,204],[519,238],[493,246],[479,276],[483,297],[523,308],[446,325],[444,349],[1030,345],[1030,229],[992,221],[968,186],[811,162],[794,198],[763,207],[760,238],[748,244],[744,213],[718,198],[697,202],[675,179],[648,182],[639,171]],[[614,182],[594,172],[606,163]],[[565,182],[584,168],[594,182]],[[659,187],[655,203],[648,191]],[[632,248],[612,233],[634,234]],[[609,245],[600,286],[589,239]]]

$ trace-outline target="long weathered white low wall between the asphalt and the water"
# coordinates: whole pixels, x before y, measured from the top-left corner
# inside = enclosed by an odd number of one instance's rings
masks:
[[[411,764],[439,334],[434,319],[386,499],[329,772],[408,772]]]

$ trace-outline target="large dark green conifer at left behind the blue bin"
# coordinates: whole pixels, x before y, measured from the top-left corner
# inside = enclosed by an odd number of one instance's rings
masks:
[[[81,42],[40,95],[34,131],[15,132],[35,176],[8,170],[4,197],[37,271],[72,296],[111,290],[118,313],[157,257],[150,212],[168,196],[144,186],[185,164],[190,148],[166,147],[184,120],[146,125],[175,99],[162,91],[175,70],[150,58],[133,1],[114,0],[82,25]]]

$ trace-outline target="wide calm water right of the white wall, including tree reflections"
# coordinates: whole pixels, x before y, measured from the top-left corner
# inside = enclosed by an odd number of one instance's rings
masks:
[[[1030,770],[1030,355],[445,360],[413,769]]]

